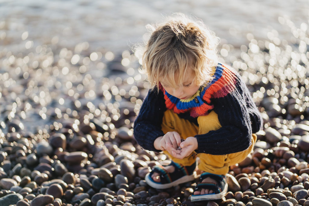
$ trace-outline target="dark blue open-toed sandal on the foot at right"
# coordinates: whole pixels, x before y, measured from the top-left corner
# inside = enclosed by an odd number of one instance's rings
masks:
[[[202,183],[203,179],[210,177],[211,179],[216,180],[218,183]],[[214,193],[211,194],[205,194],[205,195],[193,195],[195,191],[201,190],[201,189],[209,189],[214,191]],[[191,201],[201,201],[201,200],[217,200],[221,199],[225,196],[226,192],[228,190],[228,185],[226,183],[226,177],[225,175],[219,175],[219,174],[212,174],[208,172],[204,172],[201,174],[200,177],[200,183],[198,183],[193,191],[193,194],[191,195]]]

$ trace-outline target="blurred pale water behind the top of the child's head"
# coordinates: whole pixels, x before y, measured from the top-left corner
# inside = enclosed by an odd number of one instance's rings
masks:
[[[119,53],[142,40],[146,24],[182,12],[202,19],[223,43],[240,47],[248,42],[247,33],[265,39],[275,29],[280,39],[289,39],[290,28],[282,23],[289,19],[297,28],[308,23],[308,4],[307,0],[1,0],[0,46],[20,50],[30,40],[34,46],[52,43],[72,48],[88,42],[93,50]]]

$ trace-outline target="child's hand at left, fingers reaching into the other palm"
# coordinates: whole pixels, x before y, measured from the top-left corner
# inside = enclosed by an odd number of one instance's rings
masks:
[[[180,146],[181,138],[177,132],[167,132],[163,137],[158,137],[154,146],[155,149],[166,150],[167,144],[171,145],[172,148],[177,149]]]

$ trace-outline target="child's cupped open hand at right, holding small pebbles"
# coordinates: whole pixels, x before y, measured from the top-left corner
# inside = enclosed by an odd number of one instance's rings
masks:
[[[181,142],[180,148],[180,150],[177,150],[172,147],[171,144],[167,144],[166,150],[168,151],[168,153],[173,155],[173,157],[183,159],[185,157],[188,157],[195,149],[198,148],[197,138],[188,137],[185,141]]]

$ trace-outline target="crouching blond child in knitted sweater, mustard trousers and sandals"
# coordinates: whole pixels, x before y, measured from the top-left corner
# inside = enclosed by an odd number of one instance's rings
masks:
[[[203,173],[191,201],[224,197],[229,166],[252,151],[262,125],[239,74],[218,63],[217,44],[203,23],[176,14],[152,27],[142,57],[151,89],[134,122],[134,137],[142,148],[171,159],[145,180],[158,189],[191,181],[199,157]]]

